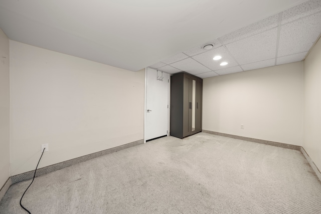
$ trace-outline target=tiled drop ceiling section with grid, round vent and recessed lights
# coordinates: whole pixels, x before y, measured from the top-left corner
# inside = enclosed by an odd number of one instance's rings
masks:
[[[311,0],[183,51],[150,68],[201,78],[302,61],[321,33],[321,1]],[[205,50],[206,44],[214,44]],[[214,61],[214,56],[222,56]],[[228,62],[220,66],[221,62]]]

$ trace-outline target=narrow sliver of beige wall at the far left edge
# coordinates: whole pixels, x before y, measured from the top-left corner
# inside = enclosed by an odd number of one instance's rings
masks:
[[[10,176],[9,39],[0,29],[0,189]]]

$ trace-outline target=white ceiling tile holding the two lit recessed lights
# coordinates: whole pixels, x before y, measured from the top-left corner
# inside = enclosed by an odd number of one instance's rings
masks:
[[[213,57],[220,55],[222,59],[220,60],[213,60]],[[231,55],[226,51],[226,49],[221,46],[219,48],[213,49],[211,51],[205,52],[203,54],[199,54],[193,57],[196,61],[200,62],[201,64],[205,65],[206,67],[210,68],[212,71],[219,70],[223,68],[229,68],[237,66],[237,62],[231,57]],[[220,66],[220,63],[227,62],[226,66]]]

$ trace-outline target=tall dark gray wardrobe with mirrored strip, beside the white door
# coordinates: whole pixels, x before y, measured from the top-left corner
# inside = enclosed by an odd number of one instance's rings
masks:
[[[178,73],[171,76],[171,136],[183,139],[202,131],[203,80]]]

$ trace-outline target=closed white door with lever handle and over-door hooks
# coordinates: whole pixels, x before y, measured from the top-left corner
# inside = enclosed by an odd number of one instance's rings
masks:
[[[145,140],[168,134],[169,74],[147,68]]]

